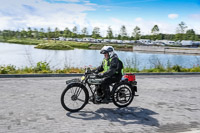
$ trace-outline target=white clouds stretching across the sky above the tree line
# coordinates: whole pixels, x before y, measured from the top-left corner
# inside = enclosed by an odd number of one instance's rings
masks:
[[[62,0],[78,2],[79,0]],[[98,6],[98,5],[97,5]],[[60,30],[68,27],[72,29],[77,26],[79,31],[87,27],[89,32],[94,27],[99,27],[101,34],[106,35],[108,26],[113,29],[114,35],[118,34],[122,25],[126,26],[127,32],[131,35],[135,26],[139,26],[142,34],[150,34],[152,27],[157,24],[161,33],[175,33],[177,23],[167,23],[166,21],[150,21],[143,18],[132,18],[123,20],[121,18],[92,19],[87,17],[87,11],[95,11],[98,8],[90,1],[80,3],[49,3],[44,0],[1,0],[0,4],[0,30],[17,30],[27,27],[45,28],[58,27]],[[109,8],[104,8],[110,11]],[[169,18],[178,18],[178,14],[169,14]],[[197,20],[197,21],[194,21]],[[200,14],[192,14],[188,21],[184,21],[188,28],[193,28],[200,33]]]

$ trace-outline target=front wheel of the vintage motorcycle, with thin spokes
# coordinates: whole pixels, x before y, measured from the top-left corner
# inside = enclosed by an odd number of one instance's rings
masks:
[[[70,112],[77,112],[83,109],[88,100],[88,90],[81,83],[69,84],[61,94],[61,105],[65,110]]]

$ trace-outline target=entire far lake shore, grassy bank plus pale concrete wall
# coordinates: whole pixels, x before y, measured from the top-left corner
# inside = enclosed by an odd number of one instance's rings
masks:
[[[73,48],[78,49],[88,49],[88,50],[100,50],[105,45],[111,45],[114,47],[116,51],[136,51],[136,52],[144,52],[144,53],[167,53],[167,54],[187,54],[187,55],[200,55],[200,48],[188,48],[188,47],[166,47],[166,46],[144,46],[144,45],[127,45],[127,44],[94,44],[94,43],[85,43],[85,42],[73,42],[73,41],[58,41],[53,44],[54,41],[50,40],[43,42],[42,44],[45,47],[39,48],[41,42],[35,44],[36,42],[25,43],[27,40],[17,40],[20,42],[10,42],[8,41],[0,41],[1,43],[9,43],[9,44],[19,44],[19,45],[35,45],[37,49],[47,49],[47,50],[71,50]],[[37,41],[37,40],[36,40]],[[34,43],[34,44],[33,44]],[[60,45],[63,45],[62,46]],[[83,44],[83,46],[81,46]],[[59,47],[58,47],[59,46]],[[66,48],[67,47],[67,48]]]

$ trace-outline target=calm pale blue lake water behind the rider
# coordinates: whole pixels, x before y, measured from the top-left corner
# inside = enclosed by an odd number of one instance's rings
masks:
[[[85,67],[92,65],[97,67],[103,60],[99,50],[43,50],[35,49],[34,45],[20,45],[0,43],[0,66],[15,65],[16,67],[35,66],[37,62],[46,61],[52,69],[64,67]],[[200,56],[176,55],[164,53],[140,53],[116,51],[119,58],[126,66],[137,64],[140,69],[153,67],[156,60],[163,65],[170,62],[172,65],[181,65],[191,68],[200,64]],[[135,63],[136,62],[136,63]]]

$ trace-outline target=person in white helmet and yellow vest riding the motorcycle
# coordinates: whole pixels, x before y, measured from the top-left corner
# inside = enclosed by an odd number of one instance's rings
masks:
[[[103,82],[101,87],[97,88],[96,101],[99,102],[102,100],[102,102],[108,103],[110,99],[109,85],[121,80],[123,75],[123,63],[119,60],[112,46],[104,46],[100,54],[104,54],[102,64],[93,70],[95,73],[103,72],[97,75],[97,77],[103,78]],[[102,92],[104,95],[102,95]]]

